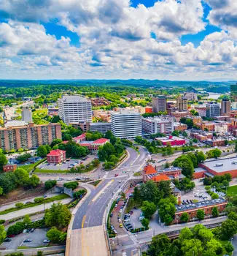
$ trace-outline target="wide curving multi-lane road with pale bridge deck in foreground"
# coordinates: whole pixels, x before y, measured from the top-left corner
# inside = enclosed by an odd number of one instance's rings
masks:
[[[111,200],[113,193],[117,192],[125,184],[133,172],[140,170],[144,165],[148,152],[140,148],[138,154],[132,148],[128,148],[128,158],[120,167],[104,175],[104,180],[98,187],[90,187],[90,195],[79,207],[72,224],[69,255],[108,255],[106,236],[103,227],[104,212]],[[128,173],[124,173],[127,171]],[[119,176],[114,177],[114,173]],[[80,241],[80,242],[79,242]]]

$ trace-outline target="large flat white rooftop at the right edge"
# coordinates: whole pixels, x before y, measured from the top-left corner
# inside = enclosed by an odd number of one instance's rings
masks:
[[[203,162],[202,165],[214,170],[216,173],[227,172],[237,169],[237,157],[215,159]]]

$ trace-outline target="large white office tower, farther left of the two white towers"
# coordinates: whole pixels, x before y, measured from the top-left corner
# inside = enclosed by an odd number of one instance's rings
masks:
[[[79,95],[58,99],[59,116],[65,124],[92,121],[91,102]]]

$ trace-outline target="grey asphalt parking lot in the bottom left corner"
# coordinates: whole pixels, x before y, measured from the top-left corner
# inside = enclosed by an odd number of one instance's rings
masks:
[[[46,246],[47,243],[43,241],[47,239],[46,236],[47,229],[45,228],[37,228],[33,233],[20,233],[18,236],[12,237],[12,241],[3,242],[1,246],[6,249],[18,249],[18,246],[28,246],[28,247],[38,247],[38,246]],[[31,239],[31,242],[24,242],[26,239]]]

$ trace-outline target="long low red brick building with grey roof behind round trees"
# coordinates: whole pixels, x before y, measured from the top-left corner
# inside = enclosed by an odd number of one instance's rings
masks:
[[[225,207],[227,206],[227,204],[228,202],[225,199],[220,197],[219,199],[206,200],[198,203],[190,203],[185,206],[178,205],[176,206],[174,223],[180,222],[180,217],[184,212],[187,212],[190,220],[196,219],[198,210],[203,210],[205,212],[206,217],[211,217],[211,211],[214,207],[217,207],[218,211],[222,212],[225,210]]]

